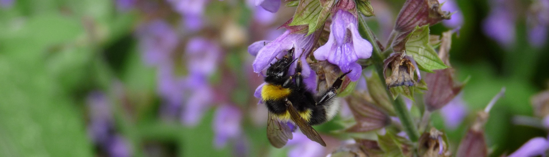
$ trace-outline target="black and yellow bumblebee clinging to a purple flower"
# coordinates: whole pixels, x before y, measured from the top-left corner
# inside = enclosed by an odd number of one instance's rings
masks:
[[[339,76],[326,91],[313,95],[304,85],[301,76],[301,60],[293,59],[294,48],[281,59],[271,64],[265,75],[266,85],[261,89],[261,97],[268,109],[267,138],[276,148],[282,148],[292,139],[292,128],[286,122],[292,120],[307,138],[326,147],[326,143],[311,125],[331,120],[339,109],[334,104],[337,89],[343,82]],[[293,60],[292,60],[293,59]],[[297,61],[294,75],[288,75],[290,65]]]

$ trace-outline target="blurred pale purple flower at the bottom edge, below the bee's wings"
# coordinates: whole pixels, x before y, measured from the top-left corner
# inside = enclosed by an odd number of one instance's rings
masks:
[[[288,141],[290,150],[289,157],[318,157],[323,156],[326,151],[322,145],[311,141],[305,134],[294,133],[294,138]]]

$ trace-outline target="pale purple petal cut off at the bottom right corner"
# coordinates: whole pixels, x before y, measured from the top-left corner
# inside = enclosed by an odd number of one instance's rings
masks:
[[[524,143],[517,151],[507,157],[533,157],[544,155],[549,149],[549,142],[543,137],[536,137]]]

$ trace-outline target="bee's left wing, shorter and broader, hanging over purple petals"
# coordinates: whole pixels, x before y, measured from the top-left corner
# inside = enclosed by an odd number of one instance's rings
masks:
[[[267,138],[269,142],[276,148],[282,148],[288,142],[288,139],[292,139],[292,129],[280,121],[278,118],[269,113],[267,120]]]

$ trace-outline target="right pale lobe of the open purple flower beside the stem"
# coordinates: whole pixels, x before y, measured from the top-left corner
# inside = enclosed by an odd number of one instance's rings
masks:
[[[360,59],[370,58],[373,51],[372,44],[360,36],[355,24],[351,24],[349,29],[351,30],[352,46],[355,49],[356,56]]]

